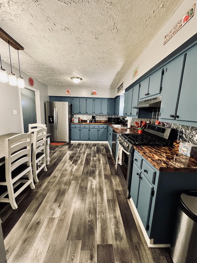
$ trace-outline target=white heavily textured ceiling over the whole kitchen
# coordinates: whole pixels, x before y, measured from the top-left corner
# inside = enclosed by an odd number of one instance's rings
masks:
[[[21,70],[42,83],[72,87],[79,76],[79,87],[115,88],[181,2],[1,0],[0,27],[24,47]],[[10,51],[18,68],[17,51]],[[10,63],[2,39],[0,52]]]

